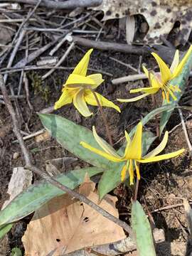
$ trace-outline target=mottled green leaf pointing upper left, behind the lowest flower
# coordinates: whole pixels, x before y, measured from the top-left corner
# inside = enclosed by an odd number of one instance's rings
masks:
[[[90,129],[82,127],[57,114],[39,114],[43,126],[65,149],[93,166],[108,167],[108,160],[91,151],[86,151],[80,142],[99,148]]]

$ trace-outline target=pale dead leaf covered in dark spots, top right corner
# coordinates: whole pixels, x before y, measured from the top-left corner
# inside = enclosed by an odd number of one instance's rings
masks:
[[[104,21],[142,14],[149,24],[149,31],[144,38],[147,43],[161,43],[159,36],[166,38],[174,23],[180,21],[178,42],[185,43],[191,33],[191,4],[191,0],[103,0],[100,6],[92,9],[104,11]]]

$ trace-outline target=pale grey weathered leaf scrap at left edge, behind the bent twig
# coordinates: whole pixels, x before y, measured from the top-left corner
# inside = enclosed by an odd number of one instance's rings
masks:
[[[31,185],[32,178],[33,174],[31,171],[26,170],[21,166],[14,168],[7,190],[9,200],[4,202],[2,209],[5,208],[19,193]]]

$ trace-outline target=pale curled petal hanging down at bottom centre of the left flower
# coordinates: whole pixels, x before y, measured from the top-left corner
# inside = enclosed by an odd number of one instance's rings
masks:
[[[76,107],[76,109],[78,110],[78,112],[80,112],[80,114],[83,115],[83,117],[90,117],[90,115],[92,115],[92,113],[90,112],[90,110],[87,107],[87,104],[85,102],[85,98],[84,98],[84,90],[79,90],[75,96],[73,97],[73,104]]]

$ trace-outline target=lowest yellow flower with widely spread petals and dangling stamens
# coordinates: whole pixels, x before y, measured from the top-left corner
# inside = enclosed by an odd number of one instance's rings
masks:
[[[185,150],[180,149],[169,154],[162,154],[160,156],[157,156],[157,154],[161,153],[161,151],[163,151],[166,146],[168,140],[168,132],[165,132],[164,139],[159,144],[159,146],[157,146],[156,149],[152,150],[145,156],[142,156],[142,122],[139,122],[139,124],[137,125],[137,130],[132,140],[130,139],[129,134],[126,131],[124,132],[125,138],[127,140],[127,146],[124,150],[124,156],[119,156],[119,154],[117,154],[117,152],[112,148],[112,146],[107,144],[107,142],[105,142],[101,137],[99,137],[97,135],[97,132],[95,131],[95,127],[92,127],[92,132],[93,136],[95,137],[95,140],[104,151],[100,149],[95,149],[94,147],[90,146],[85,142],[80,142],[80,144],[83,147],[85,147],[85,149],[89,149],[90,151],[93,151],[96,154],[99,154],[100,156],[103,156],[110,161],[125,161],[126,164],[122,168],[121,177],[122,181],[124,181],[128,170],[131,185],[133,184],[134,181],[134,167],[136,169],[137,178],[140,179],[139,163],[150,163],[154,161],[161,161],[164,159],[171,159],[172,157],[182,154],[183,151]]]

